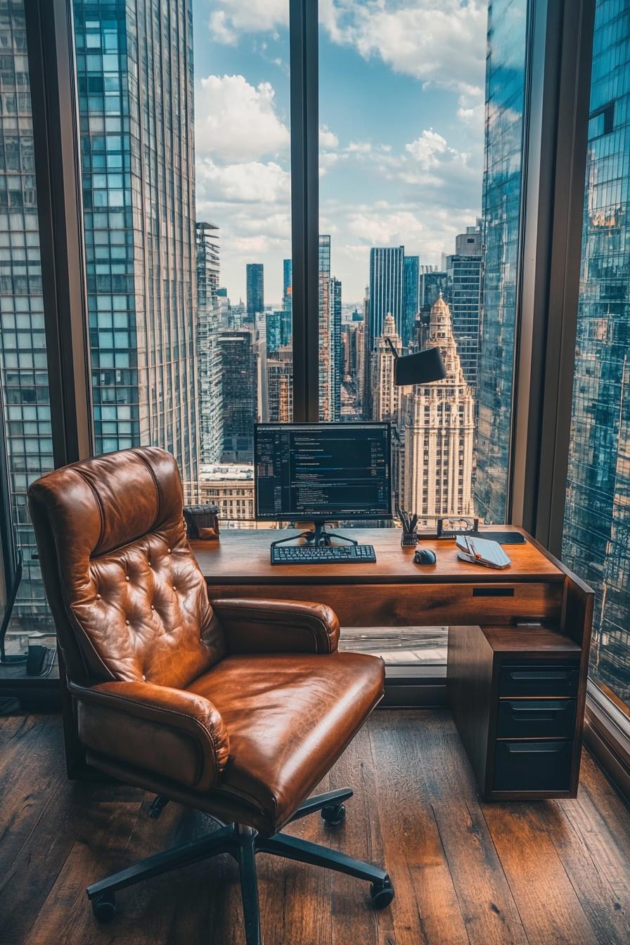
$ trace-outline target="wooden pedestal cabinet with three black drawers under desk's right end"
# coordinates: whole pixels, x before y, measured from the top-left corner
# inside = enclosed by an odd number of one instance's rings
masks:
[[[449,701],[485,800],[575,796],[581,656],[543,627],[450,627]]]

